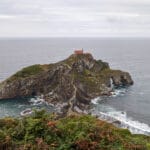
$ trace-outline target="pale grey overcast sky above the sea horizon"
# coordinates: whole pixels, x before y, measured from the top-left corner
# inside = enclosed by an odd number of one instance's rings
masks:
[[[0,37],[150,36],[150,0],[0,0]]]

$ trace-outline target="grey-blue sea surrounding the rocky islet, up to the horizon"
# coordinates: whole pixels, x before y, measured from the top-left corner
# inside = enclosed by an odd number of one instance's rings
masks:
[[[150,135],[150,38],[0,38],[0,81],[23,67],[63,60],[81,48],[112,69],[128,71],[134,80],[112,96],[93,99],[92,115]],[[29,108],[55,110],[38,97],[0,100],[0,117],[20,117]]]

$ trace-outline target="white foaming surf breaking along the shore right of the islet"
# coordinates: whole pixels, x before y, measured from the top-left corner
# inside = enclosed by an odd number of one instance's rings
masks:
[[[126,93],[126,89],[118,89],[112,93],[112,97],[124,95]],[[127,116],[125,111],[118,111],[113,107],[100,104],[102,97],[97,97],[92,100],[92,103],[96,106],[99,106],[99,109],[95,107],[91,110],[91,114],[97,116],[99,119],[107,121],[109,123],[113,123],[115,126],[128,129],[133,134],[145,134],[150,135],[150,126],[141,123],[133,118]],[[99,104],[99,105],[98,105]]]

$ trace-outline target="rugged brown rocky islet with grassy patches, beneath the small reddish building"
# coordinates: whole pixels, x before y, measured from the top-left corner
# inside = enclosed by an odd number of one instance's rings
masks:
[[[90,100],[110,95],[115,87],[130,86],[129,73],[111,70],[108,63],[91,54],[73,54],[66,60],[49,65],[22,69],[0,84],[0,99],[44,95],[49,103],[66,103],[67,111],[85,109]]]

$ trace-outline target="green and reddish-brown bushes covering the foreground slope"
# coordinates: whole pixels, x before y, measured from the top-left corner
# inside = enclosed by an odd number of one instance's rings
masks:
[[[0,119],[0,149],[9,150],[148,150],[150,137],[88,115],[57,119],[44,110],[22,119]]]

